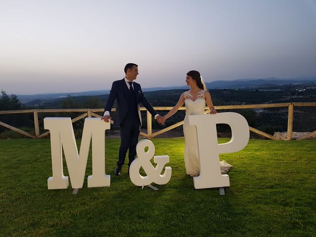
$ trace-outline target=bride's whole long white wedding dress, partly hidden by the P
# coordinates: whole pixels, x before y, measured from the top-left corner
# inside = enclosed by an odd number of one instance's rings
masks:
[[[189,91],[184,92],[184,103],[186,106],[186,117],[183,123],[183,132],[185,138],[184,161],[188,175],[192,177],[199,176],[199,159],[197,151],[197,129],[195,126],[189,126],[190,115],[203,115],[205,110],[204,100],[205,90],[198,92],[197,99],[193,100]],[[226,174],[231,164],[225,160],[220,161],[221,173]]]

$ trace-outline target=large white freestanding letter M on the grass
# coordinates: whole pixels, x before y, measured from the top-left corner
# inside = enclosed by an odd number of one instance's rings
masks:
[[[50,131],[53,172],[47,180],[48,189],[68,187],[68,176],[63,172],[62,149],[72,188],[82,188],[91,138],[92,175],[88,176],[88,188],[110,186],[110,175],[105,174],[105,130],[110,129],[109,122],[85,118],[79,154],[71,118],[44,118],[44,128]]]

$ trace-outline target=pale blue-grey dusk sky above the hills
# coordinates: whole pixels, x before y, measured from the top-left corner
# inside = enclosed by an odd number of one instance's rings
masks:
[[[316,76],[316,0],[0,0],[0,89],[143,88]]]

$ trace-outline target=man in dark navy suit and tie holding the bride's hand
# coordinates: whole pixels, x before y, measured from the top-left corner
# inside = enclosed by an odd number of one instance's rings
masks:
[[[110,122],[110,111],[113,103],[117,100],[117,108],[114,116],[114,127],[120,128],[120,147],[118,152],[118,166],[114,170],[115,175],[120,175],[122,165],[128,150],[128,172],[129,166],[136,156],[136,145],[142,125],[139,109],[140,102],[153,115],[159,123],[164,119],[158,115],[142,92],[140,84],[134,82],[138,75],[138,65],[126,64],[124,68],[125,78],[116,80],[112,84],[104,116],[105,122]]]

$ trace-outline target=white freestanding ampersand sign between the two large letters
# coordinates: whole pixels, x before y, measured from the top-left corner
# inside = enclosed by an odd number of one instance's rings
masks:
[[[145,148],[148,147],[148,151],[145,152]],[[169,162],[168,156],[154,156],[155,146],[150,140],[141,140],[136,146],[136,152],[138,158],[134,159],[129,167],[129,176],[133,184],[137,186],[146,186],[151,183],[166,184],[171,178],[171,167],[165,167],[164,173],[161,175],[161,171],[166,163]],[[154,162],[157,166],[154,167],[150,162],[154,157]],[[142,176],[139,173],[140,167],[143,166],[147,176]]]

